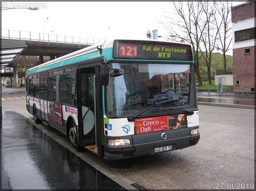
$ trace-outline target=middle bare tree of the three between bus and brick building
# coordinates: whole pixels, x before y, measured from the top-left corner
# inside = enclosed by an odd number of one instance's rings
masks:
[[[207,66],[207,77],[209,84],[212,84],[211,80],[211,64],[212,64],[212,53],[215,48],[215,44],[218,39],[219,29],[221,23],[214,23],[214,18],[216,15],[216,3],[215,2],[200,2],[201,7],[203,8],[204,15],[204,23],[206,27],[204,30],[199,28],[200,32],[203,34],[202,36],[202,46],[199,46],[201,55],[203,56],[203,60],[205,65]]]

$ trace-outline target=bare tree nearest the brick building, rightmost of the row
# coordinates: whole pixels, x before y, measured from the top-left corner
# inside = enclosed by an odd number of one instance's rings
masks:
[[[217,46],[217,48],[223,53],[223,69],[225,72],[227,70],[226,52],[231,49],[230,45],[232,41],[231,6],[232,4],[228,1],[218,2],[216,6],[218,17],[214,17],[216,26],[218,26],[218,23],[221,21],[221,26],[218,31],[220,46]]]

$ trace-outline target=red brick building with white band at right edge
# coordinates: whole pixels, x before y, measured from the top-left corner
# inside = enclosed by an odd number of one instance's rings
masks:
[[[248,1],[231,10],[234,92],[254,92],[255,8],[256,2]]]

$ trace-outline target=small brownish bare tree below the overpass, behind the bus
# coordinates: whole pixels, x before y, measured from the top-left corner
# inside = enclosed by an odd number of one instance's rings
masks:
[[[26,70],[36,65],[38,60],[35,56],[18,56],[14,61],[13,64],[16,67],[17,73],[19,78],[21,79],[21,83],[26,76]]]

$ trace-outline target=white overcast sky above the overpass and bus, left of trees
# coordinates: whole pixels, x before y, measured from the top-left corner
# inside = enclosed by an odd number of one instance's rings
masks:
[[[21,3],[2,2],[2,7]],[[35,6],[33,2],[26,3]],[[158,35],[167,36],[159,22],[163,21],[164,12],[171,11],[170,2],[37,2],[38,5],[41,9],[37,11],[3,10],[2,29],[104,39],[146,38],[147,29],[157,29]]]

